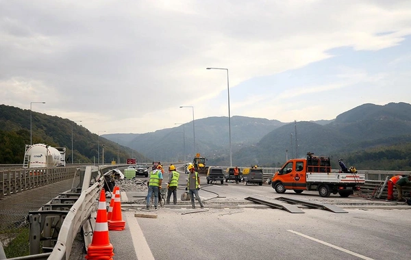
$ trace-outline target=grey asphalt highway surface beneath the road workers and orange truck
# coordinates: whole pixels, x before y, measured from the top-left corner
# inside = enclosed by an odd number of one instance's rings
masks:
[[[181,175],[180,187],[185,177]],[[177,206],[149,212],[140,210],[143,203],[122,203],[127,224],[124,231],[110,231],[113,259],[410,259],[410,206],[361,196],[277,194],[265,184],[202,185],[199,193],[204,211],[180,200]],[[122,200],[142,196],[144,192],[125,192]],[[305,206],[300,207],[304,213],[289,213],[253,204],[244,200],[247,196],[320,201],[347,213]],[[136,218],[135,213],[157,218]]]

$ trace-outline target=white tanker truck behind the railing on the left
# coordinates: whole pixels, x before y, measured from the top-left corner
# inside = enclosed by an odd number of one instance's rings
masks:
[[[66,148],[26,144],[23,168],[66,166]]]

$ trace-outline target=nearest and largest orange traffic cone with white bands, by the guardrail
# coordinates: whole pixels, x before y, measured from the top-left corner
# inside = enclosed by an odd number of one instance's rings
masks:
[[[112,260],[114,256],[113,245],[108,236],[107,212],[105,211],[105,191],[101,189],[97,218],[92,234],[91,244],[87,248],[86,259]]]

